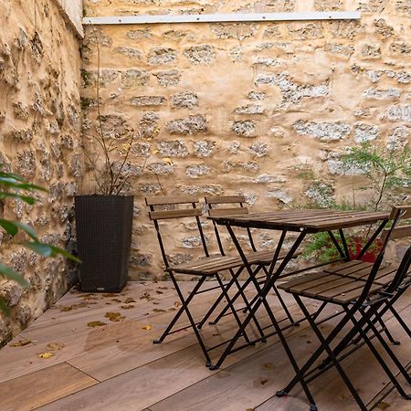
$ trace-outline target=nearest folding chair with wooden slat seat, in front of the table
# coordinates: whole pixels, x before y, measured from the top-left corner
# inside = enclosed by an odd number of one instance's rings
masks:
[[[347,272],[342,272],[342,269],[350,270],[353,265],[350,266],[348,263],[345,263],[345,266],[340,266],[340,270],[337,270],[337,272],[328,272],[327,270],[315,272],[297,279],[291,279],[290,281],[279,285],[279,289],[290,292],[294,296],[300,306],[301,311],[304,313],[307,321],[309,321],[312,330],[321,342],[321,345],[315,353],[311,355],[311,358],[306,362],[306,364],[299,367],[290,352],[290,347],[287,342],[283,342],[296,375],[290,381],[289,385],[287,385],[283,390],[277,392],[277,396],[280,397],[288,395],[290,390],[296,384],[300,383],[309,399],[311,410],[316,410],[317,406],[315,405],[314,399],[311,395],[308,383],[330,369],[332,366],[335,366],[360,409],[367,410],[362,398],[358,395],[357,390],[353,387],[352,382],[342,369],[341,364],[344,358],[346,358],[350,353],[353,353],[355,349],[358,349],[358,347],[355,347],[354,350],[344,353],[346,348],[351,345],[351,342],[353,342],[353,339],[358,338],[357,336],[359,336],[364,344],[366,344],[370,351],[374,354],[377,362],[382,366],[385,374],[387,374],[398,393],[406,399],[411,399],[411,395],[406,395],[406,392],[399,384],[395,374],[390,370],[389,366],[385,363],[385,359],[377,351],[374,343],[371,341],[373,338],[376,338],[376,340],[381,343],[385,353],[388,354],[389,358],[399,370],[399,373],[406,378],[406,382],[408,384],[411,384],[410,375],[407,374],[405,367],[395,356],[395,353],[382,336],[381,330],[378,330],[376,326],[376,321],[381,319],[381,309],[383,308],[389,310],[390,307],[393,308],[393,300],[398,295],[398,292],[401,292],[406,285],[409,285],[411,247],[408,248],[405,257],[396,269],[392,270],[381,268],[381,265],[388,240],[391,236],[397,236],[398,232],[395,232],[397,221],[400,218],[407,216],[410,209],[411,207],[409,206],[396,206],[393,208],[393,212],[390,216],[392,227],[386,231],[383,248],[376,258],[374,265],[372,265],[371,268],[367,266],[367,274],[365,276],[358,275],[359,271],[352,271],[350,275],[346,275]],[[333,269],[335,269],[335,267]],[[355,273],[357,275],[355,275]],[[305,307],[301,297],[319,300],[323,303],[332,303],[342,307],[342,319],[327,337],[322,335],[319,326],[311,317],[311,314]],[[344,327],[350,323],[353,324],[353,327],[349,332],[345,333],[342,341],[338,343],[334,349],[332,349],[332,342],[334,342],[335,338],[342,332]],[[369,333],[372,335],[370,336]],[[322,353],[326,353],[328,357],[321,363],[320,366],[313,368],[313,364]]]

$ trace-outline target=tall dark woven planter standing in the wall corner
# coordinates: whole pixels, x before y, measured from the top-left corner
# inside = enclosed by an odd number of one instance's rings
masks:
[[[120,292],[127,283],[133,196],[75,198],[81,290]]]

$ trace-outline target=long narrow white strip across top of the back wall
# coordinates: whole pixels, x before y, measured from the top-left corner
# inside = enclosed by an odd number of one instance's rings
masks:
[[[160,15],[84,17],[83,25],[145,25],[176,23],[225,23],[253,21],[358,20],[360,11],[294,12],[294,13],[231,13],[227,15]]]

